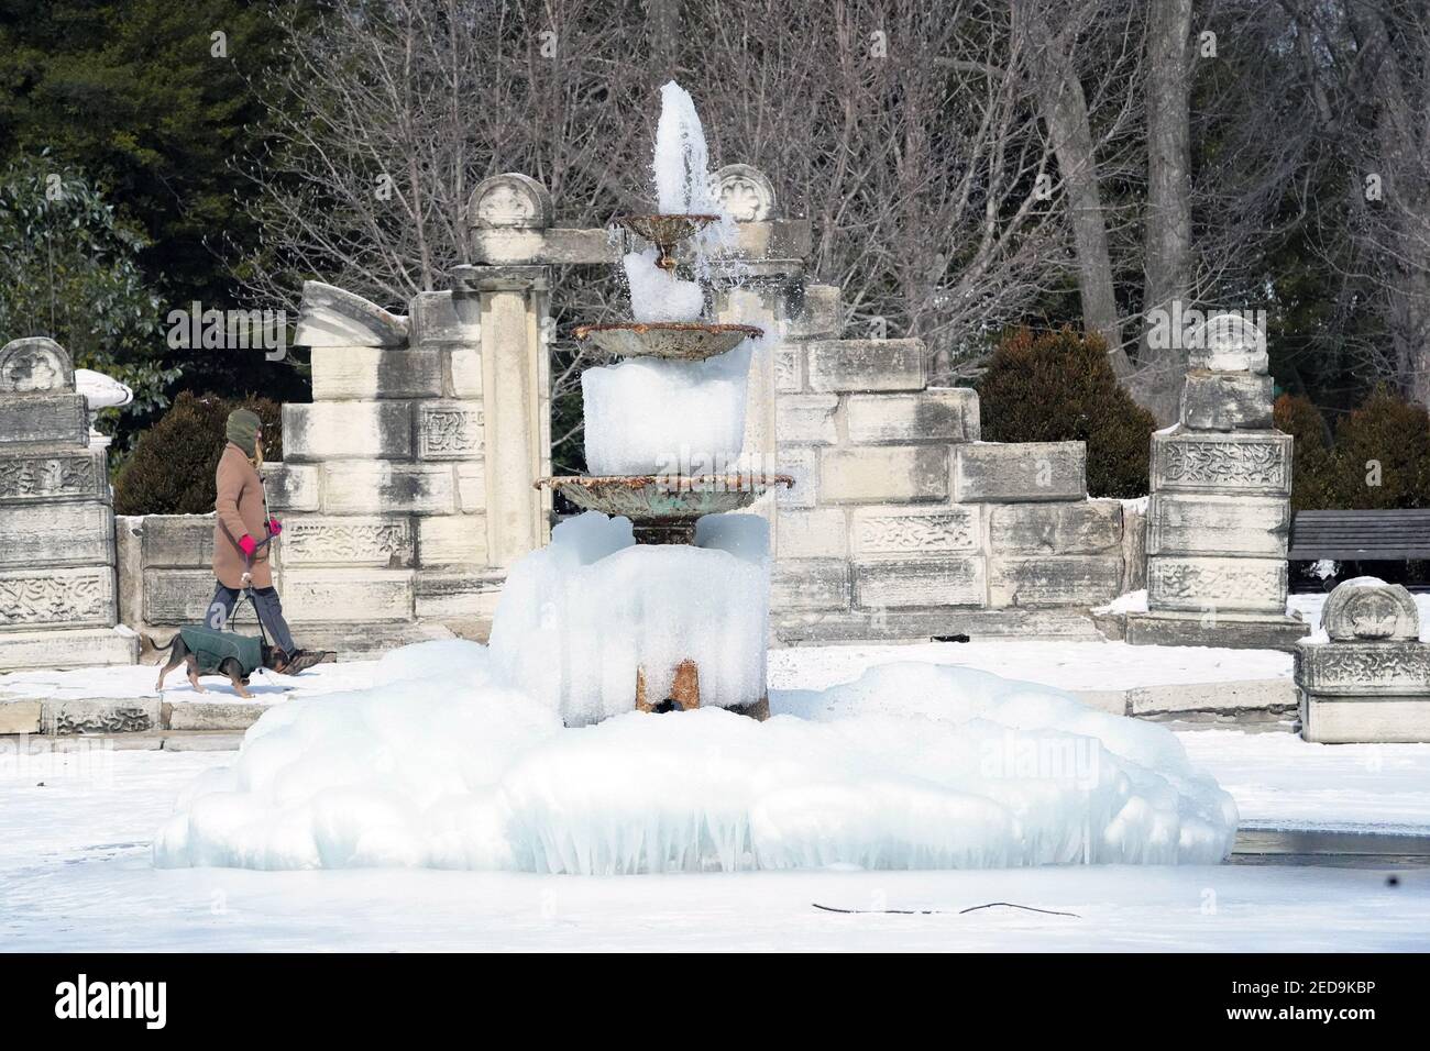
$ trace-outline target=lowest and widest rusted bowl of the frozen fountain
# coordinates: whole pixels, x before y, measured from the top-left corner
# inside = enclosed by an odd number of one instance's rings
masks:
[[[789,475],[565,475],[543,478],[538,489],[559,492],[578,508],[629,518],[636,543],[694,543],[695,522],[748,508]]]

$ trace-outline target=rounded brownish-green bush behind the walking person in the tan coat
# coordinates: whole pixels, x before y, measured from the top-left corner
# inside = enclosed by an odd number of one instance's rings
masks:
[[[120,515],[204,515],[213,510],[213,473],[223,455],[229,413],[243,406],[263,420],[263,458],[283,458],[282,412],[266,398],[227,400],[187,390],[139,445],[114,480]]]

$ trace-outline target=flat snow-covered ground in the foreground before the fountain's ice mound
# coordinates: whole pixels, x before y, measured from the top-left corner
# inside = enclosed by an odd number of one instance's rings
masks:
[[[1254,738],[1248,748],[1290,739],[1216,736]],[[1238,865],[581,878],[154,869],[147,841],[176,794],[232,758],[113,752],[103,784],[50,756],[29,756],[23,772],[14,759],[0,765],[0,949],[1430,948],[1430,871],[1400,872],[1390,887],[1369,869]],[[957,914],[994,901],[1077,915]],[[815,902],[940,912],[842,915]]]

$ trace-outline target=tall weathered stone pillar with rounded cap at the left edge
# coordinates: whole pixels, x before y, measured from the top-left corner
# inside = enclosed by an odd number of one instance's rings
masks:
[[[133,663],[116,629],[114,512],[70,356],[43,336],[0,349],[0,671]]]

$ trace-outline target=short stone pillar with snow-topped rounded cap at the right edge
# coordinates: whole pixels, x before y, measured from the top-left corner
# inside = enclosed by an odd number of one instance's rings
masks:
[[[1321,629],[1324,641],[1296,648],[1301,736],[1430,742],[1430,645],[1410,592],[1373,576],[1346,581],[1326,599]]]

